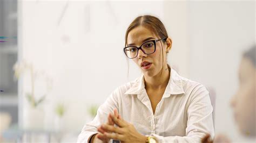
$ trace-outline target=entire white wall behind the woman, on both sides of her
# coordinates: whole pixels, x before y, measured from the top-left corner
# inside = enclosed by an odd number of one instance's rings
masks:
[[[19,11],[21,59],[53,77],[48,126],[54,104],[64,102],[66,128],[80,130],[90,105],[102,104],[115,88],[140,75],[130,61],[127,78],[124,35],[134,18],[153,14],[173,39],[169,63],[217,91],[217,133],[240,138],[228,102],[237,89],[241,51],[255,40],[254,2],[70,1],[66,6],[65,1],[22,1]],[[25,78],[21,90],[28,83]]]

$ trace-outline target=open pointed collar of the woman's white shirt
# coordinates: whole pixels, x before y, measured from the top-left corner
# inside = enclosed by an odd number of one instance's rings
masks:
[[[169,65],[167,66],[170,69],[171,76],[167,84],[167,87],[165,89],[163,97],[170,97],[171,95],[185,94],[183,90],[182,77],[177,73],[176,70],[171,68]],[[129,90],[125,92],[125,94],[138,95],[142,93],[144,89],[145,89],[144,76],[142,75],[133,82],[133,85]]]

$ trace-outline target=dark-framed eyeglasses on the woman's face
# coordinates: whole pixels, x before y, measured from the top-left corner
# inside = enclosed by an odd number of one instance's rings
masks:
[[[129,59],[136,58],[138,56],[139,49],[141,49],[142,52],[147,55],[153,54],[154,52],[156,52],[156,42],[161,41],[161,40],[166,40],[166,39],[167,38],[146,41],[140,47],[127,46],[124,48],[124,53],[127,56],[127,58],[129,58]]]

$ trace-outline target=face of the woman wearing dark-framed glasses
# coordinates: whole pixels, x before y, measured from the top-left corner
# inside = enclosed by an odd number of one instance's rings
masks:
[[[127,36],[127,46],[140,47],[144,42],[150,40],[158,40],[159,37],[156,36],[151,30],[143,26],[139,26],[131,30]],[[162,66],[167,67],[166,63],[166,52],[171,48],[171,39],[167,39],[168,44],[165,42],[156,42],[156,51],[153,54],[145,54],[140,49],[136,58],[132,59],[142,70],[145,76],[153,77],[160,73]],[[169,45],[169,46],[168,46]],[[162,56],[162,46],[163,46],[163,56]],[[164,59],[164,63],[163,63]]]

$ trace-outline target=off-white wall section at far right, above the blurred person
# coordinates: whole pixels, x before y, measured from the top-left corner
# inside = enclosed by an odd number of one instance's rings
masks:
[[[230,99],[238,88],[242,51],[255,42],[254,3],[188,3],[190,78],[215,89],[215,131],[234,142],[244,141],[234,124]]]

